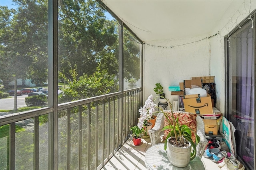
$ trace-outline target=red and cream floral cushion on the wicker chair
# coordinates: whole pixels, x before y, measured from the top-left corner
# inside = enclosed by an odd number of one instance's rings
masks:
[[[166,113],[169,115],[168,118],[171,119],[171,111],[166,111]],[[180,125],[187,125],[188,127],[190,127],[192,130],[194,130],[194,132],[196,132],[196,114],[193,113],[179,113],[179,112],[175,112],[174,113],[174,118],[177,119],[177,117],[179,117],[179,124]],[[164,126],[169,125],[168,121],[165,119],[164,121]],[[166,139],[168,133],[170,132],[169,129],[164,130],[164,136],[163,136],[163,140]],[[192,140],[193,142],[196,141],[196,135],[194,134],[194,132],[192,132]]]

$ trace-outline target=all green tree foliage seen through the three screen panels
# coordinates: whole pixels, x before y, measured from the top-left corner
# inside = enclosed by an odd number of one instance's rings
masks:
[[[0,79],[7,86],[15,75],[42,86],[48,79],[48,0],[13,2],[16,9],[0,6]],[[106,19],[94,0],[59,0],[58,6],[58,72],[71,88],[82,79],[93,81],[98,91],[87,93],[91,87],[84,86],[82,98],[110,93],[118,82],[118,23]],[[140,45],[124,31],[124,78],[138,80]]]

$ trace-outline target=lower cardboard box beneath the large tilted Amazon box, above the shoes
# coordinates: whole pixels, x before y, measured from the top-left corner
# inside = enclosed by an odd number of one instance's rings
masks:
[[[222,116],[219,119],[203,119],[204,121],[204,132],[206,134],[218,135]]]

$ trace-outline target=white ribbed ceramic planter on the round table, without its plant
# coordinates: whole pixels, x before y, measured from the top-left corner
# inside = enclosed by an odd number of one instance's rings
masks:
[[[187,147],[178,147],[170,144],[167,139],[167,157],[171,164],[177,167],[186,167],[190,162],[191,144]]]

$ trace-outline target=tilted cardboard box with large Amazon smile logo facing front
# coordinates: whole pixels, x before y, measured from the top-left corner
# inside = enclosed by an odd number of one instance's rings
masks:
[[[212,99],[209,94],[207,97],[200,97],[200,95],[185,95],[184,109],[186,112],[196,113],[200,115],[211,115],[213,114]]]

